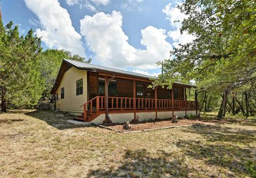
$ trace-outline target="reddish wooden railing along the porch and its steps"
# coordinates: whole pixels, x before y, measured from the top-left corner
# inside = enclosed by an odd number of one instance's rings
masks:
[[[105,110],[105,96],[95,96],[84,103],[84,117],[86,114],[92,116],[93,111]],[[185,100],[166,100],[166,99],[148,99],[148,98],[125,98],[108,97],[109,110],[158,110],[158,109],[196,109],[195,101]]]

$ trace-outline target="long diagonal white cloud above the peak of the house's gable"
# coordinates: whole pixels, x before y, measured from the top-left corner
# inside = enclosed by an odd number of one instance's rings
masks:
[[[42,29],[36,29],[37,36],[49,47],[70,51],[85,57],[81,35],[75,31],[68,11],[60,6],[58,0],[25,0],[27,7],[33,11]],[[69,47],[71,46],[71,47]]]

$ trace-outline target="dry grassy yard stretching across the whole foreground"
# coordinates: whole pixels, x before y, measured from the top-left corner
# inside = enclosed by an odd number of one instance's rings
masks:
[[[60,114],[0,114],[1,177],[256,177],[256,118],[125,134]]]

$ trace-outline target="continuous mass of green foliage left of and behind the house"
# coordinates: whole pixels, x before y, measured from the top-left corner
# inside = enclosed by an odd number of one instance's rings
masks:
[[[42,52],[41,39],[33,30],[23,36],[12,22],[4,27],[0,21],[0,89],[9,107],[33,107],[41,95],[51,100],[50,91],[63,58],[92,60],[64,50]]]

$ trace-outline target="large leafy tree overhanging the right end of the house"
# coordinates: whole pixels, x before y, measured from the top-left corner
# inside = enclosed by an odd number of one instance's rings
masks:
[[[227,95],[256,80],[256,5],[250,0],[187,0],[178,8],[188,17],[181,33],[188,31],[195,39],[171,51],[172,59],[163,62],[164,73],[153,84],[194,81],[199,88],[222,93],[221,118]]]

